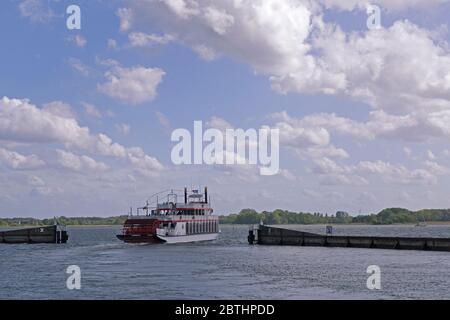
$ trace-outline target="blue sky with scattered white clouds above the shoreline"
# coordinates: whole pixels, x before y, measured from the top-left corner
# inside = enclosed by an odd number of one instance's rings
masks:
[[[217,214],[450,207],[448,0],[0,8],[0,217],[115,216],[184,186]],[[175,165],[194,121],[279,129],[279,173]]]

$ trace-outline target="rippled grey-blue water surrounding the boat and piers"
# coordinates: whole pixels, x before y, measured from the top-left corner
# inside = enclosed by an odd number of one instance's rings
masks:
[[[0,299],[450,299],[450,253],[249,246],[247,226],[221,228],[201,244],[129,245],[120,227],[76,227],[66,245],[0,245]],[[334,230],[450,237],[450,226]],[[81,290],[66,289],[69,265]],[[366,289],[369,265],[381,267],[380,291]]]

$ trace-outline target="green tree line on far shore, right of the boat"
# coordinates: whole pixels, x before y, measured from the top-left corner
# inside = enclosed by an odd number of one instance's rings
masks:
[[[347,212],[338,211],[334,215],[322,213],[291,212],[275,210],[272,212],[257,212],[253,209],[244,209],[239,214],[221,216],[223,224],[394,224],[418,222],[444,222],[450,221],[450,209],[424,209],[410,211],[402,208],[384,209],[378,214],[350,216]]]

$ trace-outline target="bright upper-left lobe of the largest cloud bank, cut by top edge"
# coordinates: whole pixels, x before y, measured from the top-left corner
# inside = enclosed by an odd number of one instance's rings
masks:
[[[270,75],[305,66],[311,10],[291,0],[132,2],[136,19],[162,21],[179,41],[212,59],[216,53],[249,62]],[[144,23],[145,25],[145,23]],[[274,70],[277,70],[274,72]]]

